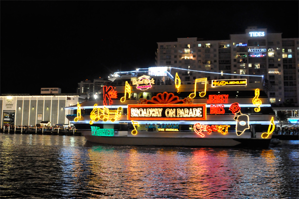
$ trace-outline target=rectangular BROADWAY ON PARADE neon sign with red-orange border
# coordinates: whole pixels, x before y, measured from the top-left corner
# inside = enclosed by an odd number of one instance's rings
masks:
[[[129,104],[128,120],[206,120],[206,104]]]

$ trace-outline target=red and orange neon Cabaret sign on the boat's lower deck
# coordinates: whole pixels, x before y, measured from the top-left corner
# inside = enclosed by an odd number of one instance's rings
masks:
[[[212,132],[218,132],[222,133],[223,135],[228,133],[228,128],[230,125],[204,125],[196,123],[193,125],[193,129],[195,133],[200,135],[201,137],[204,137],[204,134],[202,132],[207,132],[208,135],[210,135]],[[223,131],[224,130],[224,131]]]

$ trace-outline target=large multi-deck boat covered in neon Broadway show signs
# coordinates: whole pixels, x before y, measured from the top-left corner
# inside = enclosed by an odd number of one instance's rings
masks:
[[[269,147],[275,113],[263,76],[149,67],[109,80],[101,94],[66,108],[90,142]]]

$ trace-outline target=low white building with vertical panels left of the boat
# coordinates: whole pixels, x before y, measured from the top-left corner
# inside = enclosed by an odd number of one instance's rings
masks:
[[[78,95],[7,95],[0,96],[1,127],[5,124],[35,126],[41,121],[69,124],[65,107],[77,104]]]

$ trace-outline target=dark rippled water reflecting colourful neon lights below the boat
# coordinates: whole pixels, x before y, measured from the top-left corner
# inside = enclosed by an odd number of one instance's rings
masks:
[[[0,142],[0,198],[298,198],[298,141],[267,150],[49,135],[0,134]]]

